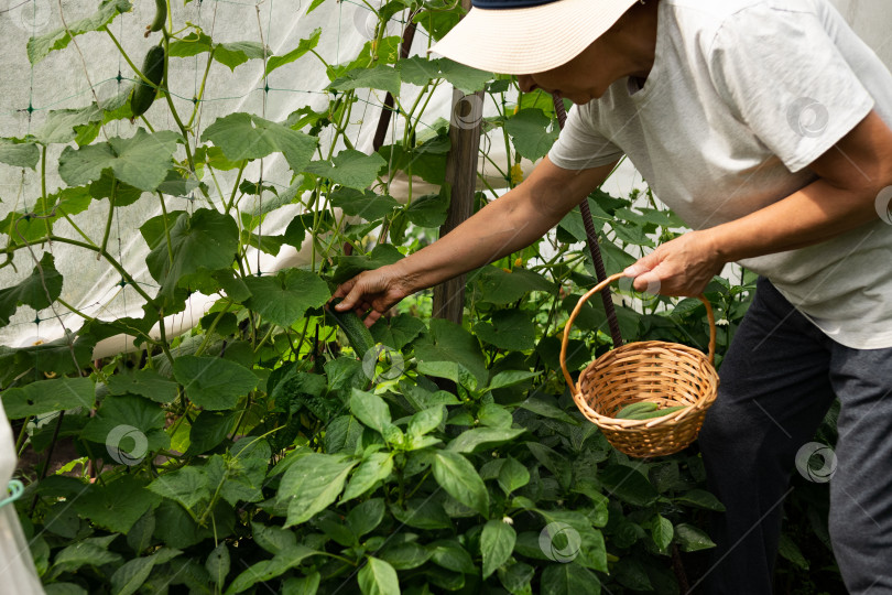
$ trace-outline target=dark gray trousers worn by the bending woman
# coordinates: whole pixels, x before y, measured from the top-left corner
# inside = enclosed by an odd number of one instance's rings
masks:
[[[697,592],[772,592],[797,452],[839,397],[836,467],[826,451],[811,479],[831,477],[830,538],[848,591],[892,595],[892,349],[831,340],[760,278],[720,378],[699,445],[708,487],[727,511],[714,515],[717,548]]]

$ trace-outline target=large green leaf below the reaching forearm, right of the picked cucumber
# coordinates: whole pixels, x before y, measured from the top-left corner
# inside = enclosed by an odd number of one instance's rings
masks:
[[[453,363],[464,368],[477,380],[477,386],[482,387],[487,381],[487,365],[480,344],[474,335],[465,331],[460,325],[444,318],[433,318],[429,332],[425,333],[414,342],[415,358],[420,363],[420,369],[425,374],[444,374],[426,368],[428,363]],[[448,376],[447,376],[448,377]],[[457,377],[450,378],[458,382]]]

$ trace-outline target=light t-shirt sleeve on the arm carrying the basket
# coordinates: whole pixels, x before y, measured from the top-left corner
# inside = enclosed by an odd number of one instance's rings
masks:
[[[722,23],[710,77],[735,115],[795,173],[873,108],[819,18],[762,2]]]

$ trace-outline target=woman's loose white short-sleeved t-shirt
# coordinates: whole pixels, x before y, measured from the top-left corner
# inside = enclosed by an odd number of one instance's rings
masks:
[[[892,127],[892,74],[826,0],[662,0],[643,87],[570,110],[548,153],[581,170],[628,155],[692,228],[809,184],[806,166],[871,109]],[[828,336],[892,347],[892,225],[741,260]]]

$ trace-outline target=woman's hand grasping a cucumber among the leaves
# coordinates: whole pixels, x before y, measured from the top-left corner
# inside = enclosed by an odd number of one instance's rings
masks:
[[[345,281],[338,285],[331,299],[344,298],[335,310],[346,312],[353,309],[360,318],[366,317],[366,326],[371,326],[384,312],[411,293],[413,290],[401,268],[387,264],[372,271],[362,271]]]

